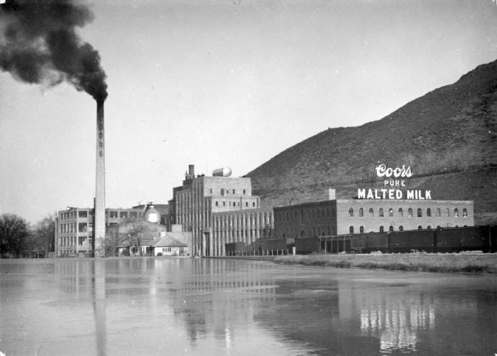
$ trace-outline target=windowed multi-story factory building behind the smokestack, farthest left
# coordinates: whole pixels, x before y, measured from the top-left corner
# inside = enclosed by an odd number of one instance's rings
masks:
[[[113,226],[129,218],[143,215],[143,208],[107,208],[105,224],[111,232]],[[55,219],[55,255],[85,256],[94,251],[94,209],[68,208],[58,211]],[[106,233],[107,234],[107,233]]]

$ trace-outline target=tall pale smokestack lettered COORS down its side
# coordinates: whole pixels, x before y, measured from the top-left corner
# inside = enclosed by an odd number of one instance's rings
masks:
[[[104,101],[97,101],[97,166],[95,176],[95,257],[104,257],[105,238],[105,142]]]

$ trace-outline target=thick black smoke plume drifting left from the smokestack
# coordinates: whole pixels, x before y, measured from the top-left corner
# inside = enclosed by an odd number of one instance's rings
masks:
[[[70,82],[103,103],[99,52],[76,33],[93,17],[76,0],[7,0],[0,5],[0,68],[31,84]]]

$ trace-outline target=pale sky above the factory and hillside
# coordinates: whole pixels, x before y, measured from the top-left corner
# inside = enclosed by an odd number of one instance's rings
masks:
[[[112,208],[166,203],[189,164],[244,175],[322,130],[378,120],[497,59],[492,0],[89,7],[95,18],[80,35],[108,76]],[[0,213],[35,222],[92,206],[95,122],[88,94],[0,72]]]

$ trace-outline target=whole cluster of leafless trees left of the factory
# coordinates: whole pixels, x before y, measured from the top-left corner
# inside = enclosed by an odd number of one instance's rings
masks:
[[[23,257],[52,252],[55,243],[55,215],[31,226],[13,213],[0,215],[0,257]]]

